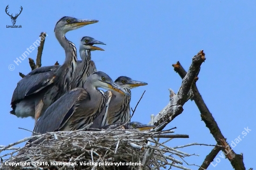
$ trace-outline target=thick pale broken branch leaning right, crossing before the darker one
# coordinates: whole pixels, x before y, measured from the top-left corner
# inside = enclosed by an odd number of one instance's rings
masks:
[[[189,72],[182,79],[182,85],[177,94],[172,93],[168,105],[158,113],[154,118],[154,125],[162,124],[166,121],[166,124],[171,122],[175,117],[182,113],[182,106],[189,98],[189,90],[197,73],[199,72],[202,62],[205,60],[205,54],[200,51],[192,58],[192,64],[189,67]],[[161,131],[166,124],[164,124],[159,131]]]

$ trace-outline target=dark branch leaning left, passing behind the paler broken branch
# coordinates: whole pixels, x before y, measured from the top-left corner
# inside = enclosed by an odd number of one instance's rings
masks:
[[[173,65],[175,72],[177,72],[181,78],[184,78],[187,76],[187,72],[182,67],[180,62],[177,62],[175,65]],[[218,124],[216,123],[215,119],[213,118],[212,114],[210,113],[208,107],[205,105],[201,94],[199,93],[195,83],[193,83],[191,87],[193,91],[193,100],[195,101],[195,104],[197,105],[200,113],[202,121],[206,124],[206,127],[209,128],[210,133],[215,138],[218,145],[225,146],[225,148],[222,148],[223,153],[226,155],[226,157],[229,159],[231,165],[235,170],[245,170],[244,164],[243,164],[243,155],[236,154],[234,150],[232,150],[229,146],[229,144],[226,142],[225,137],[222,135],[222,132],[220,128],[218,127]]]

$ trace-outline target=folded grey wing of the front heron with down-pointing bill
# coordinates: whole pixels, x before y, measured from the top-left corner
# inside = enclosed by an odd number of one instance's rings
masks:
[[[80,101],[86,98],[89,98],[89,95],[83,88],[75,88],[65,93],[44,112],[34,132],[43,134],[57,131],[74,114]]]

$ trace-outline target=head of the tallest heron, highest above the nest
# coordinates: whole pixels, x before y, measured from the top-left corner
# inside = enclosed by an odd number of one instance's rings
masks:
[[[94,24],[96,22],[99,22],[99,21],[98,20],[79,20],[73,17],[62,17],[57,22],[54,28],[54,32],[62,31],[63,33],[67,33],[68,31],[71,31],[89,24]]]

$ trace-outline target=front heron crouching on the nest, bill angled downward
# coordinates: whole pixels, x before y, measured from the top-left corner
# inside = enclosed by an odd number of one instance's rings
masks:
[[[106,73],[94,72],[85,81],[84,88],[67,92],[48,107],[34,132],[74,131],[93,122],[106,106],[105,93],[97,87],[126,94]]]

